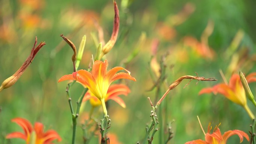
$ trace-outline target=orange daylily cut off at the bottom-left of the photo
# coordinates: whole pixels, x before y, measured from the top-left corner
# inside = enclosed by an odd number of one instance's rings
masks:
[[[43,124],[36,122],[34,124],[34,128],[31,123],[22,118],[15,118],[12,119],[12,122],[17,123],[24,131],[24,134],[21,132],[13,132],[6,136],[7,139],[9,138],[22,138],[26,141],[26,144],[30,144],[31,140],[31,133],[34,131],[36,134],[36,139],[34,144],[52,144],[53,140],[61,141],[60,135],[54,130],[48,130],[43,132]]]

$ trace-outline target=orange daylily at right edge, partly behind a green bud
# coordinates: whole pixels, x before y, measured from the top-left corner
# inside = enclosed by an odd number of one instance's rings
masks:
[[[247,82],[255,82],[256,81],[256,73],[249,74],[246,79]],[[245,108],[247,113],[250,115],[252,119],[255,117],[253,116],[252,112],[250,111],[248,105],[247,105],[247,99],[246,99],[246,93],[244,91],[243,85],[240,81],[240,76],[238,74],[233,74],[229,80],[228,84],[220,83],[212,88],[204,88],[199,92],[199,95],[204,93],[211,93],[213,94],[222,94],[232,102],[241,105]]]

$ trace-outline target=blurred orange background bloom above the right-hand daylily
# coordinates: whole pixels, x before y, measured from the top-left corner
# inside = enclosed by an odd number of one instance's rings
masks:
[[[205,43],[201,43],[191,36],[186,36],[183,40],[185,46],[191,47],[199,56],[202,56],[202,58],[214,58],[214,50],[209,48]]]

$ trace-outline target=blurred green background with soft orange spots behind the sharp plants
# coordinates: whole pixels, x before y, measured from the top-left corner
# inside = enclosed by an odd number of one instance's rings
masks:
[[[120,15],[118,40],[106,55],[109,69],[123,66],[131,71],[137,82],[122,80],[131,93],[121,96],[127,108],[109,101],[108,114],[112,120],[110,133],[117,135],[122,144],[135,144],[145,135],[150,123],[149,96],[155,101],[154,80],[150,77],[152,45],[158,42],[155,55],[158,61],[166,57],[166,81],[170,85],[183,75],[216,77],[217,82],[184,80],[164,99],[163,112],[172,123],[174,137],[169,143],[183,144],[204,139],[196,116],[204,130],[208,123],[220,125],[222,133],[240,129],[248,133],[252,123],[246,111],[222,95],[198,92],[205,87],[222,83],[221,69],[229,80],[232,73],[242,70],[245,74],[256,71],[254,63],[256,41],[255,4],[253,0],[117,0]],[[87,36],[85,52],[79,69],[87,69],[96,46],[91,34],[98,35],[95,22],[104,31],[107,42],[113,27],[112,0],[1,0],[0,1],[0,81],[7,79],[23,64],[33,47],[35,36],[38,43],[46,45],[37,53],[15,85],[0,93],[0,144],[25,144],[23,140],[6,140],[6,134],[22,131],[11,122],[15,117],[31,123],[42,122],[45,130],[54,129],[63,138],[61,144],[70,144],[72,123],[65,88],[67,82],[58,79],[73,72],[72,50],[60,37],[64,34],[78,48],[83,35]],[[140,39],[140,37],[143,37]],[[127,64],[131,53],[137,53]],[[255,84],[250,84],[255,94]],[[82,86],[72,88],[73,105],[82,93]],[[167,90],[162,86],[161,95]],[[249,107],[255,113],[256,108]],[[86,102],[83,111],[89,112]],[[101,110],[101,108],[98,108]],[[159,113],[159,111],[158,111]],[[101,115],[97,116],[101,119]],[[156,134],[153,143],[158,143]],[[165,138],[167,134],[165,134]],[[91,143],[97,143],[94,137]],[[238,143],[234,136],[228,143]],[[57,142],[56,142],[57,143]],[[82,130],[77,128],[76,143],[82,144]],[[111,143],[111,141],[110,141]],[[243,142],[247,144],[247,141]]]

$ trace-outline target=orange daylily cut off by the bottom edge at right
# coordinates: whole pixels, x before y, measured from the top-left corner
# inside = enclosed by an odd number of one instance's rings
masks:
[[[240,143],[243,142],[244,137],[247,141],[249,141],[249,136],[240,130],[226,131],[223,135],[220,132],[220,129],[216,126],[213,130],[213,133],[210,134],[212,127],[210,124],[208,125],[208,132],[205,134],[205,141],[203,140],[194,140],[189,141],[185,144],[226,144],[229,137],[232,135],[238,135],[240,138]]]

